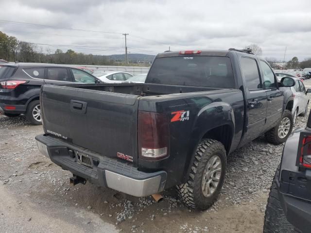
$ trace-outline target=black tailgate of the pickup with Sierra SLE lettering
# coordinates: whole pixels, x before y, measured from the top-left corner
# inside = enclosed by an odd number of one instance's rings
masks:
[[[131,156],[138,165],[138,96],[43,85],[40,98],[45,133],[106,157]]]

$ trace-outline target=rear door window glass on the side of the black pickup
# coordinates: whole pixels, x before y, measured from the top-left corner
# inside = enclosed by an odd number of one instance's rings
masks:
[[[262,88],[260,84],[259,70],[255,59],[242,57],[241,68],[248,90]]]

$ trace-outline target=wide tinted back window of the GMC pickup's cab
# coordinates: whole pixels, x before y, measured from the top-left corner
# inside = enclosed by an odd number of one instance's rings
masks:
[[[146,83],[234,88],[228,57],[180,56],[155,59]]]

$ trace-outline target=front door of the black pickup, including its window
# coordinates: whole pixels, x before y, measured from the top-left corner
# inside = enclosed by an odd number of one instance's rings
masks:
[[[260,67],[263,79],[263,89],[267,94],[267,120],[265,131],[275,127],[283,113],[284,93],[277,87],[276,76],[269,65],[260,60]]]

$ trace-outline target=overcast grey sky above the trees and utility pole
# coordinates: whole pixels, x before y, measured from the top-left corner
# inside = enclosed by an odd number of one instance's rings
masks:
[[[49,47],[120,54],[122,33],[129,33],[132,53],[258,44],[263,57],[283,60],[285,47],[285,60],[311,57],[311,0],[1,0],[0,8],[0,31],[31,43],[64,45],[38,45],[44,52]]]

